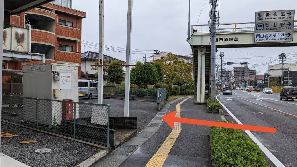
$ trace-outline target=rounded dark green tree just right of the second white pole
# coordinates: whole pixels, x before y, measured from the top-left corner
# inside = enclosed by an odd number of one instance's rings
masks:
[[[139,87],[146,88],[148,84],[153,85],[158,81],[158,70],[151,63],[136,62],[136,66],[131,69],[130,82]]]

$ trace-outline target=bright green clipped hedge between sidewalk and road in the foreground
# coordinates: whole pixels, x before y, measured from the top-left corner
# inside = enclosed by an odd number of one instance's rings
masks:
[[[261,149],[242,130],[210,127],[210,132],[214,167],[267,167]]]

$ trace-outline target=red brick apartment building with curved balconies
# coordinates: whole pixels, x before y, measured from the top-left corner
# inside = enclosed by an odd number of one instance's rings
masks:
[[[54,4],[58,1],[57,4]],[[60,0],[61,1],[61,0]],[[68,4],[63,4],[64,2]],[[10,16],[10,25],[26,28],[31,25],[31,53],[45,54],[46,63],[72,63],[80,65],[81,26],[86,12],[70,8],[71,0],[59,0]],[[60,5],[58,5],[60,4]],[[12,37],[14,39],[14,37]],[[7,61],[3,69],[21,70],[23,64],[38,64],[40,60]],[[80,78],[80,66],[79,66]],[[3,76],[7,83],[9,76]]]

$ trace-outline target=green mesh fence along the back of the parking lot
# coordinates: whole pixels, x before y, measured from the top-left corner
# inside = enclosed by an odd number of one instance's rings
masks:
[[[125,95],[125,87],[103,86],[105,95]],[[138,97],[157,97],[158,89],[156,88],[134,88],[130,87],[130,96]]]

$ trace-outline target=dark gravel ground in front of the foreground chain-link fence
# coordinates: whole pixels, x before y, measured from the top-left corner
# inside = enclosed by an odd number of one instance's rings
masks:
[[[19,135],[1,138],[1,152],[31,167],[74,167],[100,151],[94,146],[5,122],[2,122],[1,131]],[[27,140],[37,140],[37,142],[18,143]],[[73,150],[63,150],[63,147],[73,147]],[[49,153],[34,152],[41,148],[49,148],[52,151]]]

